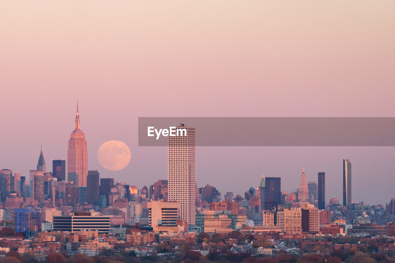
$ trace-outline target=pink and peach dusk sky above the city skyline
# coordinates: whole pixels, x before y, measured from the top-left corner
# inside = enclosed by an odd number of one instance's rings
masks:
[[[139,188],[167,179],[167,148],[138,147],[138,117],[394,117],[394,1],[2,1],[0,169],[67,158],[79,100],[88,169]],[[182,120],[180,120],[182,122]],[[131,150],[120,171],[97,151]],[[197,147],[196,182],[241,194],[326,173],[342,200],[395,197],[394,147]]]

